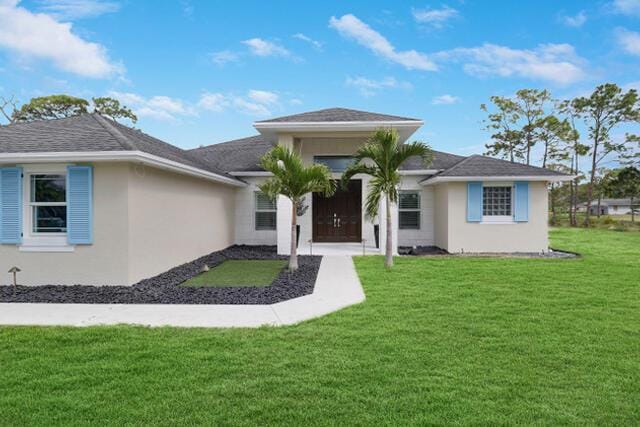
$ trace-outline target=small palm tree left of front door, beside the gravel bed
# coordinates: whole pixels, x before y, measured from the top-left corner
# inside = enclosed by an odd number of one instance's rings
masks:
[[[286,147],[278,145],[265,154],[260,160],[264,170],[273,177],[259,185],[260,191],[275,199],[283,195],[291,200],[291,256],[289,271],[298,269],[296,248],[297,208],[302,204],[305,194],[318,192],[331,196],[335,192],[335,183],[331,172],[325,165],[313,164],[305,166],[302,159]]]

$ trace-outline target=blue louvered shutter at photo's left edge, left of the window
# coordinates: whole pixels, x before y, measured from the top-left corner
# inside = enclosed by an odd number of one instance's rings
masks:
[[[0,243],[22,243],[22,168],[0,169]]]

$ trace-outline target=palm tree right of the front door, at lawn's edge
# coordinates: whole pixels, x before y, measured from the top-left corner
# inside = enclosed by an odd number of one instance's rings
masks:
[[[393,242],[391,241],[391,203],[398,201],[398,185],[400,184],[400,166],[409,158],[419,156],[425,166],[431,163],[432,152],[428,145],[422,142],[401,144],[398,142],[398,132],[395,129],[378,129],[361,146],[354,155],[354,163],[342,175],[342,185],[346,187],[349,179],[356,174],[371,176],[368,186],[365,206],[369,218],[378,216],[380,199],[383,197],[387,207],[387,242],[385,247],[385,262],[387,268],[393,266]]]

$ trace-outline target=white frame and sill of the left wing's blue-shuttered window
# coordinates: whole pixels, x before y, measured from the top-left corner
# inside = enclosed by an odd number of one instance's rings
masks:
[[[31,202],[32,175],[63,175],[67,177],[66,164],[38,164],[22,166],[23,211],[22,211],[22,252],[73,252],[74,246],[67,243],[67,233],[36,233],[33,231],[33,206],[67,206],[64,203]]]

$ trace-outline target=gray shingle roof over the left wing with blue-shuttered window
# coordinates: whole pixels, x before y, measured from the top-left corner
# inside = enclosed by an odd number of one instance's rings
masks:
[[[0,153],[142,151],[226,175],[188,151],[99,114],[0,126]]]

